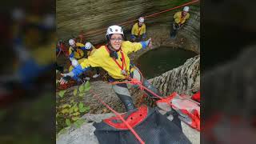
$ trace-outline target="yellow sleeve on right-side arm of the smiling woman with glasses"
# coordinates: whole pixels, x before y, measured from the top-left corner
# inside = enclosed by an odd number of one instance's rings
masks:
[[[140,42],[122,42],[122,50],[126,54],[130,54],[132,52],[138,51],[142,49],[142,44]]]

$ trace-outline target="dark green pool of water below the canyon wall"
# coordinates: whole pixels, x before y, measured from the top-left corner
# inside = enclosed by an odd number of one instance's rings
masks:
[[[170,47],[150,50],[138,58],[135,65],[142,71],[145,78],[154,78],[168,70],[182,66],[194,52]]]

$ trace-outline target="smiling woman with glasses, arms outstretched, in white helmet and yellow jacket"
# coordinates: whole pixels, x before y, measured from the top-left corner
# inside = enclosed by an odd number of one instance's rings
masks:
[[[132,52],[145,49],[146,46],[151,46],[151,39],[142,42],[129,42],[123,41],[123,38],[124,34],[121,26],[108,27],[106,31],[106,46],[99,47],[95,50],[94,54],[84,59],[80,65],[75,66],[74,70],[70,71],[70,73],[62,74],[60,83],[64,84],[68,81],[69,77],[74,78],[82,74],[89,70],[90,66],[98,66],[102,67],[109,74],[109,82],[122,82],[129,78],[137,78],[140,81],[143,79],[143,86],[159,94],[158,90],[146,78],[142,78],[138,69],[130,65],[130,58],[128,57],[128,54]],[[125,105],[127,111],[135,109],[126,83],[115,84],[112,88]],[[148,94],[153,97],[152,94]]]

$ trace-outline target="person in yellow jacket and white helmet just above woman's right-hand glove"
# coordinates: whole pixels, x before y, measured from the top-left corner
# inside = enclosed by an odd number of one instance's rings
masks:
[[[136,22],[131,30],[131,40],[133,42],[140,42],[145,40],[146,38],[146,25],[144,23],[144,18],[138,18],[138,22]]]

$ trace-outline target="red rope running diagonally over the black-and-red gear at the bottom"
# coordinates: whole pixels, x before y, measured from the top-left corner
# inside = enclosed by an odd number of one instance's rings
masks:
[[[113,110],[110,106],[108,106],[105,102],[103,102],[102,99],[98,97],[98,94],[95,94],[95,93],[93,92],[93,90],[90,90],[90,92],[94,94],[93,97],[97,98],[98,101],[102,102],[102,104],[103,104],[104,106],[106,106],[109,110],[111,110],[114,114],[116,114],[116,115],[118,116],[118,118],[120,118],[120,119],[122,120],[122,122],[124,122],[124,123],[126,124],[126,126],[128,127],[128,129],[134,134],[134,136],[138,139],[139,142],[141,142],[142,144],[145,144],[145,142],[142,141],[142,138],[140,138],[140,137],[138,136],[138,134],[136,133],[136,131],[129,125],[129,123],[127,123],[126,120],[122,118],[121,114],[118,114],[117,111]]]

